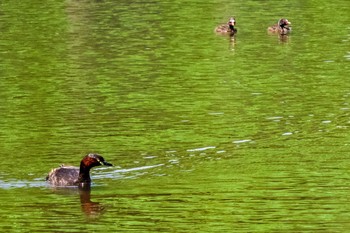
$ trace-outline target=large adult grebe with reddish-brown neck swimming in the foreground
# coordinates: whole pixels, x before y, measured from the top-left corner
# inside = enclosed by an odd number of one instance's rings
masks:
[[[90,169],[96,166],[113,166],[98,154],[88,154],[79,167],[61,165],[47,175],[46,181],[53,186],[86,186],[91,184]]]

